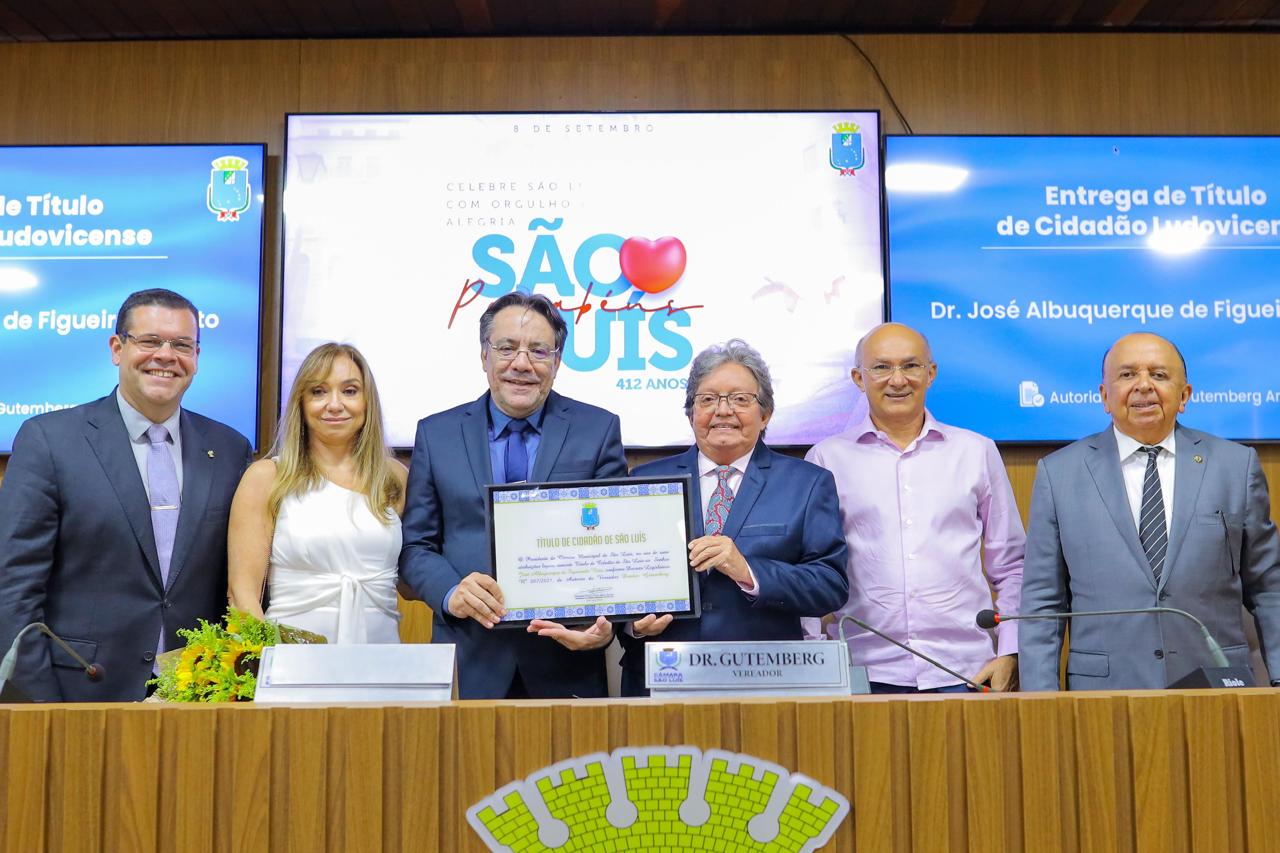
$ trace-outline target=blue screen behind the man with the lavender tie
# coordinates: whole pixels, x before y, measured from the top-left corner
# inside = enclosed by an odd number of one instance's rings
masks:
[[[201,318],[183,406],[255,439],[262,145],[0,147],[0,452],[24,420],[106,394],[133,291]]]

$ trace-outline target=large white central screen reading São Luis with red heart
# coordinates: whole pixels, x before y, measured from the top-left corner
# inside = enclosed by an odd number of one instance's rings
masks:
[[[477,324],[543,293],[557,391],[632,447],[691,441],[684,383],[740,337],[768,361],[771,443],[845,426],[883,315],[878,114],[291,115],[282,393],[324,341],[376,375],[389,439],[485,389]]]

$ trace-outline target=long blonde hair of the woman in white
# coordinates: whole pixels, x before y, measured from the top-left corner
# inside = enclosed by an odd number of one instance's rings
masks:
[[[352,455],[356,459],[357,491],[369,501],[369,508],[383,524],[390,524],[396,505],[401,498],[401,484],[392,469],[390,451],[383,433],[383,406],[378,386],[365,356],[349,343],[321,343],[307,353],[293,378],[289,402],[284,407],[280,428],[271,447],[275,457],[275,484],[268,497],[266,508],[274,523],[280,505],[291,494],[303,494],[323,485],[324,476],[316,469],[307,446],[307,420],[302,410],[306,393],[316,383],[324,382],[333,364],[346,356],[360,370],[365,391],[365,424],[356,434]]]

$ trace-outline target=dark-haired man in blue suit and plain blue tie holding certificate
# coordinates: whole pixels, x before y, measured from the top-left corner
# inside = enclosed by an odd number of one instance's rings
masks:
[[[456,643],[463,699],[600,697],[613,629],[495,628],[485,485],[626,476],[617,415],[552,391],[568,329],[544,296],[512,292],[480,318],[489,391],[417,424],[401,579],[434,611],[431,642]],[[543,634],[541,637],[538,633]]]

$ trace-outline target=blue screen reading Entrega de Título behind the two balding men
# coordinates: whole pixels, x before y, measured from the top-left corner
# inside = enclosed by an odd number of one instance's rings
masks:
[[[890,314],[933,346],[929,409],[1097,432],[1102,356],[1146,330],[1187,359],[1181,423],[1280,438],[1277,164],[1262,137],[887,137]]]

